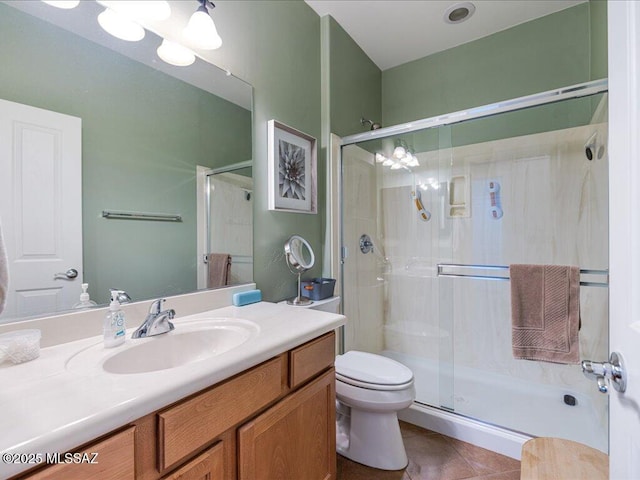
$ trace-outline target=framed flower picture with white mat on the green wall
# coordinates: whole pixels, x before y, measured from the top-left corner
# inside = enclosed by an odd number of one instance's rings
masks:
[[[316,139],[277,120],[267,129],[269,210],[318,213]]]

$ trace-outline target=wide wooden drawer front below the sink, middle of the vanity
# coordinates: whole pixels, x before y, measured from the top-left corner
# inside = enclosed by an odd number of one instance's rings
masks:
[[[160,471],[213,441],[282,394],[283,356],[158,414]]]

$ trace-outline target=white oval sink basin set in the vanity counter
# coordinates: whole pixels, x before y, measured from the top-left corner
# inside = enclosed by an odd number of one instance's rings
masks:
[[[113,374],[149,373],[182,367],[237,348],[260,327],[236,318],[199,318],[175,322],[175,330],[154,337],[131,339],[113,349],[102,343],[73,355],[67,370],[87,373],[96,368]]]

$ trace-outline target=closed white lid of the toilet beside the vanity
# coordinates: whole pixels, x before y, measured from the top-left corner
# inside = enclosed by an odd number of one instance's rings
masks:
[[[350,351],[336,357],[336,374],[347,380],[373,385],[404,385],[413,372],[395,360],[373,353]]]

